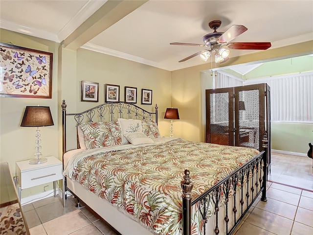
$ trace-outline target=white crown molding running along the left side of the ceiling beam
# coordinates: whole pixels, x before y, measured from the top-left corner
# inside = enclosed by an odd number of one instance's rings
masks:
[[[77,14],[60,30],[58,39],[65,40],[72,32],[83,24],[93,13],[95,13],[108,0],[89,0]]]

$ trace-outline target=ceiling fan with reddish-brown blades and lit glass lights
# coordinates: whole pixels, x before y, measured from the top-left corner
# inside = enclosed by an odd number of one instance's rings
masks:
[[[170,43],[170,45],[207,47],[205,50],[201,50],[193,55],[190,55],[179,62],[189,60],[197,55],[200,55],[203,61],[207,61],[210,55],[214,54],[215,63],[223,63],[229,59],[229,49],[266,50],[271,47],[269,42],[231,43],[232,40],[244,33],[247,28],[244,25],[233,24],[226,30],[226,32],[217,32],[216,30],[221,26],[221,24],[221,21],[211,21],[209,23],[209,27],[213,29],[214,32],[208,33],[202,37],[204,44]]]

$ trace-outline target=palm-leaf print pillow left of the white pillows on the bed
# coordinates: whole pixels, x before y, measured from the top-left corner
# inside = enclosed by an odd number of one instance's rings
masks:
[[[112,146],[122,143],[118,121],[90,122],[80,124],[87,149]]]

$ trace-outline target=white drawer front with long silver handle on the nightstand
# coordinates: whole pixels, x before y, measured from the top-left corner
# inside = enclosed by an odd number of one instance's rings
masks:
[[[21,188],[30,188],[62,179],[62,165],[21,172]]]

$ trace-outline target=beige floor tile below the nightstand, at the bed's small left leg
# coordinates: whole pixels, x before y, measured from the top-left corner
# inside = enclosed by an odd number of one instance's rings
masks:
[[[66,202],[65,208],[60,202],[49,203],[45,206],[36,208],[37,214],[42,223],[75,210],[78,209],[69,201]]]

